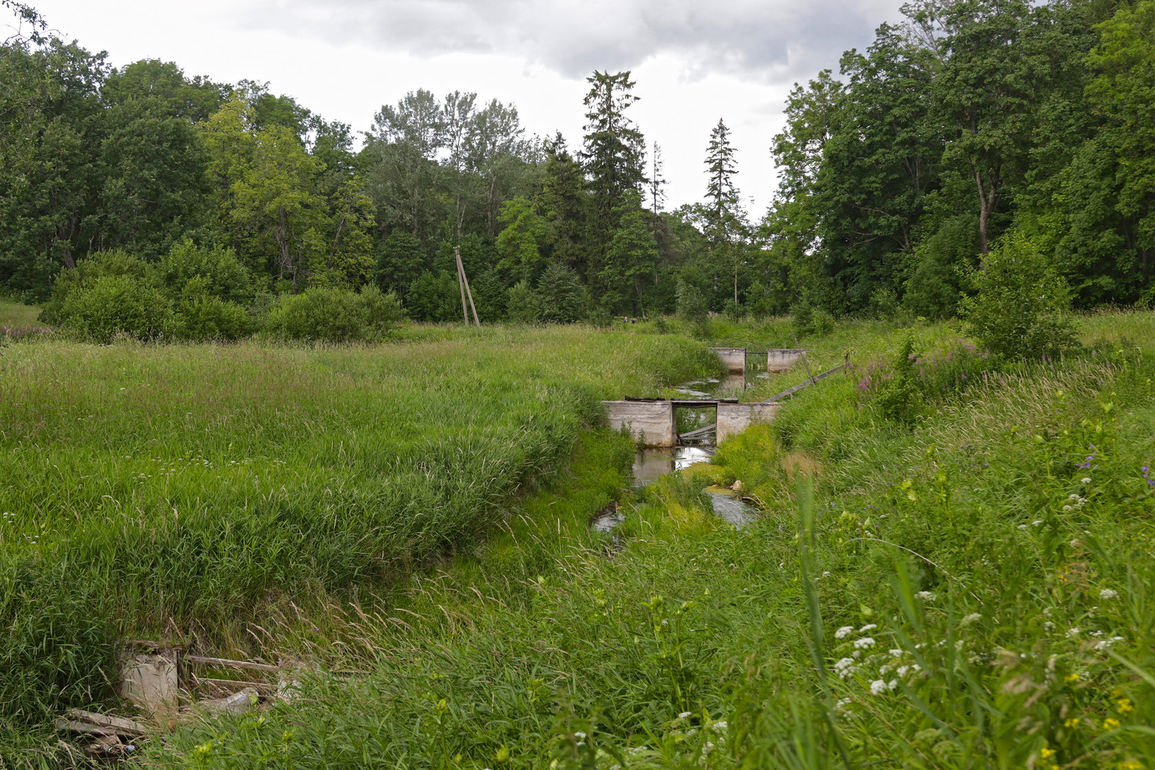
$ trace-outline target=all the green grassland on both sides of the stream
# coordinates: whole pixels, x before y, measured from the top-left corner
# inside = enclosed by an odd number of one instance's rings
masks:
[[[629,492],[598,399],[793,346],[687,331],[0,347],[6,767],[67,763],[44,717],[139,637],[301,665],[147,767],[1152,767],[1155,316],[1034,362],[837,326],[798,342],[852,372]]]

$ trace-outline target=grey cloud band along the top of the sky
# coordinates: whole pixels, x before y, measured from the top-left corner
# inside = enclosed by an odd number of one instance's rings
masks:
[[[266,0],[241,12],[249,29],[416,55],[511,54],[584,77],[669,53],[688,79],[737,74],[761,82],[836,67],[862,46],[894,0]]]

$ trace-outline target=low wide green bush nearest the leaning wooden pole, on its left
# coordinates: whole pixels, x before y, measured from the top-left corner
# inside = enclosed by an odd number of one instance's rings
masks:
[[[282,339],[349,342],[381,339],[401,321],[401,302],[377,286],[306,289],[282,294],[264,314],[266,334]]]

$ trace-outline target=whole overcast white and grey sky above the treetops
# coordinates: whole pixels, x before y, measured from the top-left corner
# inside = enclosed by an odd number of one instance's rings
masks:
[[[176,61],[186,75],[268,81],[329,120],[370,128],[424,88],[516,105],[529,134],[581,142],[586,77],[633,70],[629,112],[662,145],[669,208],[701,200],[706,145],[732,130],[754,218],[775,187],[770,140],[795,82],[837,69],[894,21],[900,0],[30,0],[50,27],[114,66]],[[2,36],[0,36],[2,37]]]

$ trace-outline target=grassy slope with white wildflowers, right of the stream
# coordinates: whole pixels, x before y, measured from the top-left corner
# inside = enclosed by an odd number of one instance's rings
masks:
[[[363,643],[296,702],[150,760],[1149,767],[1155,320],[1089,319],[1086,353],[1023,365],[939,338],[900,403],[866,377],[902,336],[625,499],[617,539],[584,528],[617,484],[586,474],[623,462],[595,442],[524,529],[350,620]],[[762,506],[739,531],[702,495],[736,481]]]

